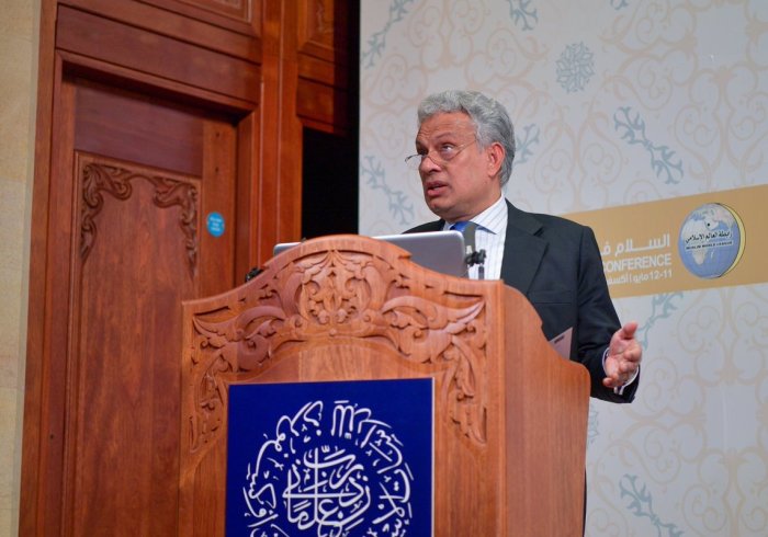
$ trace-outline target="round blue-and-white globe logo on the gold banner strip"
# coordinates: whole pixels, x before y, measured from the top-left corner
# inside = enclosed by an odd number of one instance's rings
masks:
[[[708,203],[686,217],[677,249],[682,264],[694,276],[721,277],[744,253],[744,225],[730,207]]]

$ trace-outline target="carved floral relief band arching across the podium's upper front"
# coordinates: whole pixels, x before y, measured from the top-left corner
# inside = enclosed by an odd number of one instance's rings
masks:
[[[372,249],[372,241],[339,236],[304,243],[193,316],[184,361],[194,392],[187,408],[192,450],[221,434],[227,382],[257,377],[297,346],[349,340],[385,345],[442,375],[438,397],[450,419],[474,443],[485,443],[484,298],[456,293],[458,278],[398,263],[406,252],[384,243]]]

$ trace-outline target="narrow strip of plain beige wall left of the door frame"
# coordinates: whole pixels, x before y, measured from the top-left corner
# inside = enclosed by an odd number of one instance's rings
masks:
[[[39,2],[0,1],[0,536],[16,535]]]

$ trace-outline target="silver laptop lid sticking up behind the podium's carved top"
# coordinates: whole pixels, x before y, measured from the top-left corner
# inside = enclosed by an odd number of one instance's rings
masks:
[[[451,276],[466,276],[464,260],[464,236],[460,231],[428,231],[422,233],[383,235],[371,237],[395,244],[410,252],[410,260],[421,266]],[[300,244],[281,242],[275,244],[273,254]]]

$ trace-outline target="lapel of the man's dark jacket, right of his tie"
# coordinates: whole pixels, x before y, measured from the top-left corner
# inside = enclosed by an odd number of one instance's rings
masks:
[[[501,260],[501,279],[507,285],[528,294],[547,242],[537,237],[541,222],[507,202],[507,238]]]

